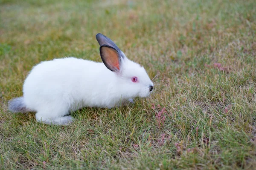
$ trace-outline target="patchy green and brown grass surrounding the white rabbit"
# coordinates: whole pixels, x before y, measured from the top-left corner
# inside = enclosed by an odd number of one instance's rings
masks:
[[[35,64],[101,61],[98,32],[156,76],[150,98],[68,127],[8,111]],[[0,0],[0,82],[0,169],[256,168],[254,0]]]

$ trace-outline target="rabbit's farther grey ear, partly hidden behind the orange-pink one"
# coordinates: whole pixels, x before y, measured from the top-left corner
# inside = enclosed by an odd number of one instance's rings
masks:
[[[119,53],[119,55],[124,59],[126,58],[125,54],[118,48],[118,46],[116,46],[116,44],[108,37],[106,37],[105,35],[98,33],[96,35],[96,39],[99,43],[100,46],[102,45],[108,45],[111,46],[112,48],[116,49],[116,51]]]

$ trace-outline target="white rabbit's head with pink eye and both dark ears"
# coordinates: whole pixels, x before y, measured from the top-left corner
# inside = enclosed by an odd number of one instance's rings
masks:
[[[125,54],[108,37],[97,34],[100,55],[105,66],[115,72],[117,83],[121,86],[125,98],[147,97],[153,91],[153,83],[145,69],[129,60]]]

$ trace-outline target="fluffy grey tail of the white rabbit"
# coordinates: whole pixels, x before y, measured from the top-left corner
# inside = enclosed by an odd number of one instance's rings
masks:
[[[30,112],[32,111],[31,109],[28,109],[24,103],[24,98],[14,98],[11,101],[9,101],[9,110],[11,112]]]

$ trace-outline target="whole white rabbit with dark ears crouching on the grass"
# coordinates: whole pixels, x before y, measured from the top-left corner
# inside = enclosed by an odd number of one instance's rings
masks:
[[[23,97],[9,101],[11,112],[36,112],[36,121],[69,125],[70,112],[82,107],[113,108],[147,97],[153,83],[145,69],[129,60],[105,35],[96,35],[103,63],[59,58],[34,66],[23,84]]]

